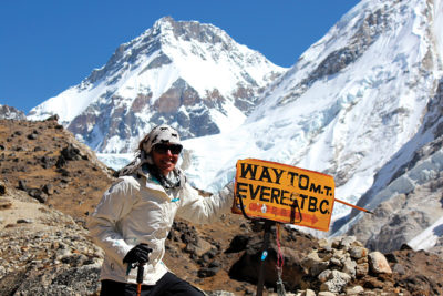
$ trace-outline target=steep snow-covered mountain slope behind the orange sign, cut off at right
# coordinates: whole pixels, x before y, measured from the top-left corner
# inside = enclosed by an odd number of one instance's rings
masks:
[[[405,173],[393,167],[437,136],[423,124],[442,116],[442,18],[440,0],[361,1],[265,91],[241,126],[186,142],[193,180],[217,191],[238,159],[257,157],[330,174],[337,198],[356,204],[369,192],[360,205],[375,208],[384,197],[373,197]],[[350,210],[336,203],[333,220]]]

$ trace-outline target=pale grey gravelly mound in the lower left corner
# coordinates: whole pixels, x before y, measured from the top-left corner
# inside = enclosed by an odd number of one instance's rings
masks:
[[[0,205],[1,295],[97,292],[102,251],[72,217],[14,190]]]

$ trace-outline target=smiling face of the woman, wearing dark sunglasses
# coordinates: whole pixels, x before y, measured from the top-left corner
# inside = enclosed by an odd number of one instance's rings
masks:
[[[177,164],[181,151],[181,145],[172,144],[156,144],[152,149],[151,155],[153,162],[164,176],[166,176],[171,171],[174,170],[175,165]]]

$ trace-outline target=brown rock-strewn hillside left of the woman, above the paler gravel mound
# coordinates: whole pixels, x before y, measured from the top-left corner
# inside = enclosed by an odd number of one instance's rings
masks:
[[[79,221],[112,182],[112,171],[54,120],[0,120],[0,139],[1,178]]]

